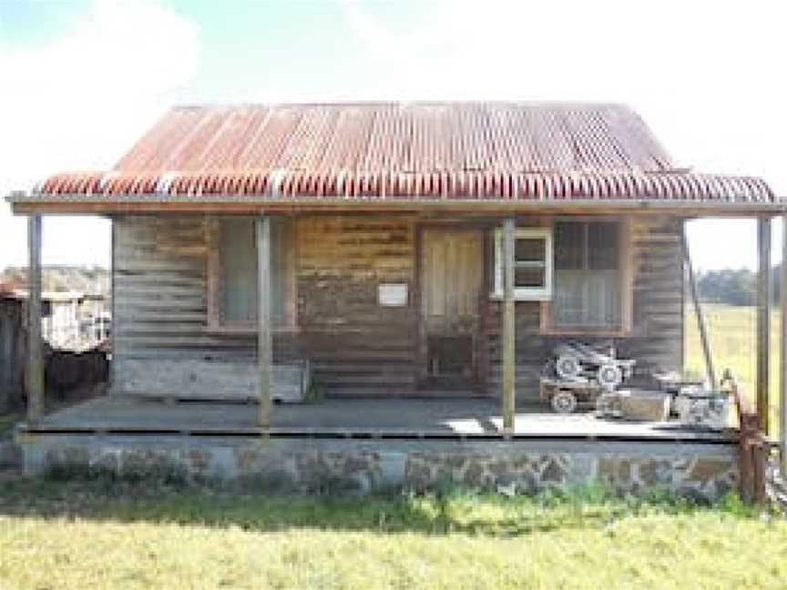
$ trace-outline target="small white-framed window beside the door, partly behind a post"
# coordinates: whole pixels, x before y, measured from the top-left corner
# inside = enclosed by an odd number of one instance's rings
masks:
[[[503,231],[495,234],[495,296],[503,296]],[[552,295],[552,232],[517,229],[514,248],[514,299],[548,300]]]

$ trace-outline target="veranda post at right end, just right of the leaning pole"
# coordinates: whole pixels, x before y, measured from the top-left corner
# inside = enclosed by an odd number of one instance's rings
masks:
[[[757,413],[768,434],[771,374],[771,219],[757,219]]]

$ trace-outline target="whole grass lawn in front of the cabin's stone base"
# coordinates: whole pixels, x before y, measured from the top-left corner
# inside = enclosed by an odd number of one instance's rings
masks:
[[[3,588],[783,588],[787,523],[600,488],[365,499],[0,483]]]

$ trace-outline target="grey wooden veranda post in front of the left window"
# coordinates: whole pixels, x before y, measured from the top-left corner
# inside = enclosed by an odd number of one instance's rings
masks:
[[[257,362],[260,369],[260,425],[271,428],[273,341],[271,338],[271,217],[257,219]]]

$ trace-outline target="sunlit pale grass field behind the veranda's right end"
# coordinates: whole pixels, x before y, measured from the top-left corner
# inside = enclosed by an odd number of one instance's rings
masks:
[[[703,304],[705,320],[710,336],[710,348],[716,368],[717,379],[721,372],[730,368],[741,381],[746,392],[755,394],[756,377],[756,330],[757,320],[752,307],[733,307],[729,305]],[[700,331],[694,316],[694,308],[686,307],[686,371],[698,375],[705,374],[705,362],[700,344]],[[781,367],[781,321],[782,315],[774,310],[771,318],[771,434],[778,435],[779,398]]]

